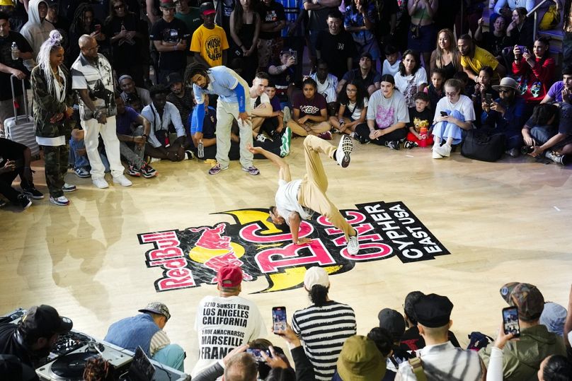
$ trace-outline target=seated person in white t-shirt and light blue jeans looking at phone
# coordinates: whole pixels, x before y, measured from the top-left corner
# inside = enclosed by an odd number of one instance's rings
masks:
[[[473,102],[462,95],[462,83],[457,79],[445,82],[445,98],[437,102],[433,119],[433,158],[451,155],[451,146],[462,141],[462,130],[473,128],[475,110]],[[442,115],[443,112],[444,114]],[[445,143],[441,146],[442,141]]]

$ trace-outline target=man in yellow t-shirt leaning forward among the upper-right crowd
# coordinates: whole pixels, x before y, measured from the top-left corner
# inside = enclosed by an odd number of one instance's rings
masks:
[[[479,71],[483,66],[491,66],[494,71],[493,83],[499,83],[506,74],[505,66],[498,63],[493,54],[474,45],[471,36],[462,35],[457,40],[461,53],[461,66],[471,81],[479,81]]]

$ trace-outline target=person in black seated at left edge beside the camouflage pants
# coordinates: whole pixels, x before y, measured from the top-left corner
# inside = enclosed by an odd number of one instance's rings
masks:
[[[12,204],[28,209],[33,199],[43,199],[44,195],[35,189],[30,162],[32,153],[30,148],[21,143],[0,138],[0,194]],[[13,189],[12,182],[20,176],[20,186],[23,193]],[[4,206],[4,201],[0,200]]]

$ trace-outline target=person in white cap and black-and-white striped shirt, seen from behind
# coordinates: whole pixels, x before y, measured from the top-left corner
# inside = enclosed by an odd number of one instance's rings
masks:
[[[356,333],[352,307],[330,300],[329,288],[326,270],[318,266],[307,269],[304,289],[308,291],[312,305],[297,310],[292,316],[292,330],[304,341],[316,380],[323,381],[332,380],[343,341]]]

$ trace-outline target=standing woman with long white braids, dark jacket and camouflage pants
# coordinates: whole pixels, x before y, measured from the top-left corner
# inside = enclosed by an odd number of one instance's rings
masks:
[[[36,141],[42,147],[45,158],[45,177],[50,189],[50,202],[67,206],[69,200],[64,192],[76,190],[66,184],[69,147],[66,138],[71,133],[71,77],[63,65],[64,48],[60,45],[62,35],[52,30],[50,37],[40,47],[38,66],[32,70],[34,124]]]

